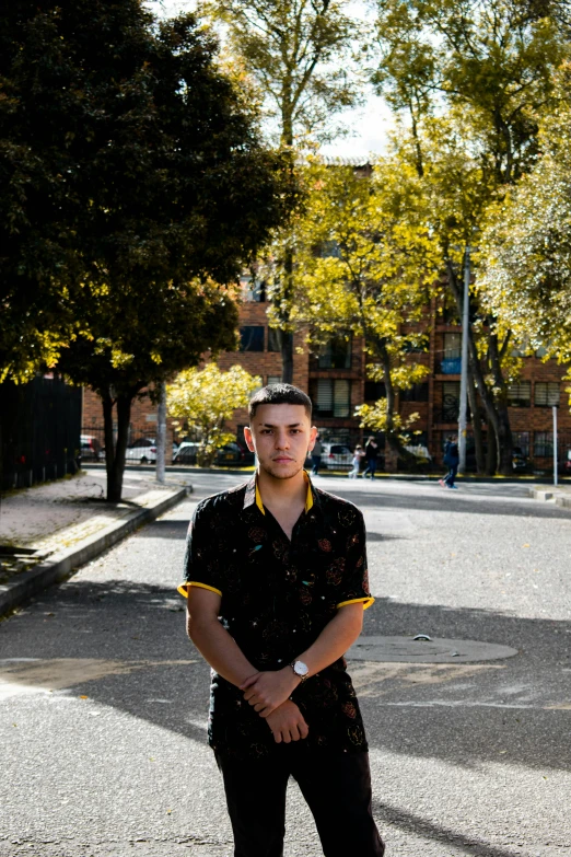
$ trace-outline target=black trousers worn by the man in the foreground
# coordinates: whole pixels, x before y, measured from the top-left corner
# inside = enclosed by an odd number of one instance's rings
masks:
[[[371,810],[369,754],[277,744],[264,760],[217,755],[234,831],[234,857],[282,857],[286,790],[293,776],[310,807],[325,857],[383,857]]]

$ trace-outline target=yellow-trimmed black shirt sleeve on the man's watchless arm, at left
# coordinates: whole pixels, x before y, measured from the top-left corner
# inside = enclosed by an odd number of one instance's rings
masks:
[[[184,559],[184,581],[178,592],[188,598],[190,587],[209,589],[222,595],[220,553],[212,538],[208,506],[199,503],[188,526]]]

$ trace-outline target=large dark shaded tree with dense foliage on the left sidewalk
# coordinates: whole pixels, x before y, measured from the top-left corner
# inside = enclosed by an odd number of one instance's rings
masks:
[[[191,15],[158,25],[138,0],[67,0],[16,2],[1,23],[11,207],[0,347],[15,371],[25,348],[14,339],[37,340],[102,395],[117,500],[132,397],[208,348],[234,347],[232,293],[214,283],[235,280],[283,222],[290,159],[264,148]]]

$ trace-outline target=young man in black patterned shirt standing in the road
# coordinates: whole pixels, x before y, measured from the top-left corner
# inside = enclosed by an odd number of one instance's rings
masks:
[[[235,857],[281,857],[299,783],[326,857],[382,857],[359,704],[343,653],[373,599],[362,514],[303,471],[311,401],[275,384],[249,404],[247,485],[200,502],[185,559],[190,639],[212,667],[209,741]]]

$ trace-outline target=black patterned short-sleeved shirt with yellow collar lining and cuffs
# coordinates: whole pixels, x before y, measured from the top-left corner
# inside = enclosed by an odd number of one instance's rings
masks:
[[[291,542],[261,502],[255,476],[202,500],[190,522],[185,556],[190,586],[221,595],[219,621],[257,670],[279,670],[300,657],[354,602],[370,606],[365,530],[356,506],[315,488]],[[345,658],[293,692],[310,733],[307,749],[366,750]],[[260,757],[272,744],[266,720],[243,692],[212,673],[209,742],[221,754]]]

